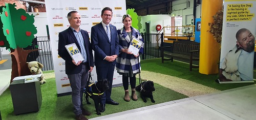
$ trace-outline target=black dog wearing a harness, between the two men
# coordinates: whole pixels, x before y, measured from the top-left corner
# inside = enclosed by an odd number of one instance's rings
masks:
[[[99,104],[102,105],[101,98],[106,89],[109,89],[109,81],[107,79],[98,80],[96,83],[89,83],[89,85],[86,87],[86,102],[87,104],[91,104],[89,102],[90,96],[90,98],[94,101],[96,113],[98,115],[101,115],[99,111]]]

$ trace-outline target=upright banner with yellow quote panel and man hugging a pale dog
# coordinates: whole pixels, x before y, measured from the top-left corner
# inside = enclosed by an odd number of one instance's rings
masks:
[[[256,1],[224,1],[219,83],[253,81]]]

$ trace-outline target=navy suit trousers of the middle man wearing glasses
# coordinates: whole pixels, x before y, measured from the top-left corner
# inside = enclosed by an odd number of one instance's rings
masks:
[[[114,75],[115,65],[109,64],[108,66],[98,67],[96,66],[97,79],[108,79],[109,81],[109,89],[106,90],[101,98],[102,104],[105,104],[106,101],[111,100],[111,91],[112,91],[112,83],[113,83],[113,75]]]

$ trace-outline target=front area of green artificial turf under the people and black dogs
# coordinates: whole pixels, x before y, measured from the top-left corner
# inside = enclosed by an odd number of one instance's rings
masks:
[[[137,84],[138,80],[137,80]],[[105,112],[101,113],[101,115],[112,114],[116,112],[121,112],[125,110],[140,108],[144,106],[159,104],[163,102],[178,100],[187,98],[187,96],[172,91],[166,87],[163,87],[159,84],[155,83],[156,91],[154,92],[154,99],[156,103],[152,103],[150,99],[147,99],[147,103],[144,103],[142,99],[138,95],[137,101],[125,102],[123,100],[124,90],[123,87],[114,87],[112,88],[112,99],[119,102],[119,105],[109,105],[106,104]],[[47,79],[46,84],[41,85],[41,94],[42,94],[42,105],[38,112],[31,112],[25,114],[14,115],[13,105],[10,90],[7,89],[0,96],[0,110],[3,119],[74,119],[73,113],[73,105],[71,102],[71,95],[57,97],[56,83],[55,79]],[[130,89],[131,96],[131,89]],[[94,102],[92,99],[89,99],[92,103],[91,105],[87,105],[83,102],[84,108],[92,112],[92,115],[88,116],[88,118],[98,117],[95,112]]]

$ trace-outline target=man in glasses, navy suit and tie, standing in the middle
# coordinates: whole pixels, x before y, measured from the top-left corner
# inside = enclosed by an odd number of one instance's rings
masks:
[[[98,79],[107,78],[109,89],[101,99],[100,112],[105,111],[105,103],[118,105],[111,99],[113,74],[116,64],[116,57],[119,54],[119,43],[116,27],[109,24],[112,19],[112,9],[109,7],[101,11],[102,22],[92,27],[91,40],[94,52],[94,61]]]

